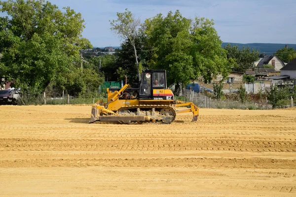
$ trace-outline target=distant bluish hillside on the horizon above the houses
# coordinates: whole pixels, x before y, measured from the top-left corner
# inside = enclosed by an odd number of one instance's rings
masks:
[[[282,49],[286,46],[286,44],[272,44],[272,43],[248,43],[248,44],[241,44],[241,43],[231,43],[231,42],[223,42],[222,47],[226,46],[227,44],[237,45],[238,49],[243,49],[245,47],[250,47],[251,49],[259,50],[259,53],[265,53],[265,55],[272,55],[277,50]],[[296,50],[296,44],[287,44],[289,48],[294,48]]]

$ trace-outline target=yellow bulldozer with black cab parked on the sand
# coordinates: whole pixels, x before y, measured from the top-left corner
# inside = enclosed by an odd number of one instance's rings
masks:
[[[139,88],[131,88],[126,82],[122,88],[107,89],[108,100],[92,105],[91,120],[102,122],[172,123],[179,113],[192,112],[197,121],[199,108],[192,102],[174,99],[167,88],[165,70],[146,70],[142,73]],[[179,108],[178,107],[183,107]],[[185,108],[184,108],[185,107]]]

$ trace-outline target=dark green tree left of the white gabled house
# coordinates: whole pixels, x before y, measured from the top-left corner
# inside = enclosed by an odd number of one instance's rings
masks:
[[[254,62],[259,59],[259,51],[254,49],[251,51],[249,47],[239,50],[237,45],[227,44],[224,49],[227,51],[227,58],[234,61],[233,69],[238,72],[245,72],[247,69],[253,68]]]

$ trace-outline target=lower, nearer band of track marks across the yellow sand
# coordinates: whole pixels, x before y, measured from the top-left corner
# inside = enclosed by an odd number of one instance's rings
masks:
[[[232,158],[151,158],[151,159],[19,159],[0,160],[0,167],[57,167],[57,166],[114,166],[114,167],[257,167],[294,169],[296,160],[283,159],[232,159]]]

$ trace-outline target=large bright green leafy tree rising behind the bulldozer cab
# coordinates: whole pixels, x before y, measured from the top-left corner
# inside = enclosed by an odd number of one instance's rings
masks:
[[[213,20],[188,19],[177,10],[147,19],[143,30],[152,49],[148,65],[167,70],[168,85],[176,85],[177,95],[190,79],[203,76],[209,80],[230,72]]]

